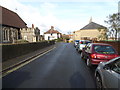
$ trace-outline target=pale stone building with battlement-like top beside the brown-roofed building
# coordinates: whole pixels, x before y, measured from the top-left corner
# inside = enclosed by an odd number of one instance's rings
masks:
[[[20,32],[23,40],[27,40],[29,42],[40,41],[40,29],[38,27],[35,28],[33,24],[31,28],[22,28]]]

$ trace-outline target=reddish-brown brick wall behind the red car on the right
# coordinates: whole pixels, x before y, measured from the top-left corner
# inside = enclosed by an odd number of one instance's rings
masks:
[[[118,54],[120,55],[120,41],[94,41],[94,43],[111,44],[118,51]]]

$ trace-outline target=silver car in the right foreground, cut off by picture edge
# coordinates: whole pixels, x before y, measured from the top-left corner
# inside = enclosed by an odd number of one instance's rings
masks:
[[[103,88],[120,90],[120,57],[101,62],[95,71],[95,78],[97,88],[100,90]]]

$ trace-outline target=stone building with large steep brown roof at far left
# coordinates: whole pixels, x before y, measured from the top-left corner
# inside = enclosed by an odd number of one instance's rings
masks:
[[[0,6],[2,13],[1,35],[2,43],[14,43],[16,40],[21,39],[20,29],[27,28],[27,24],[19,17],[19,15],[7,8]]]

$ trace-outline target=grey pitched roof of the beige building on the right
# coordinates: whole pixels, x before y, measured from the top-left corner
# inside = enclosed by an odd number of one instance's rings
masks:
[[[86,26],[81,28],[80,30],[99,29],[99,28],[106,28],[106,27],[102,26],[102,25],[99,25],[97,23],[94,23],[94,22],[90,22],[89,24],[87,24]]]

